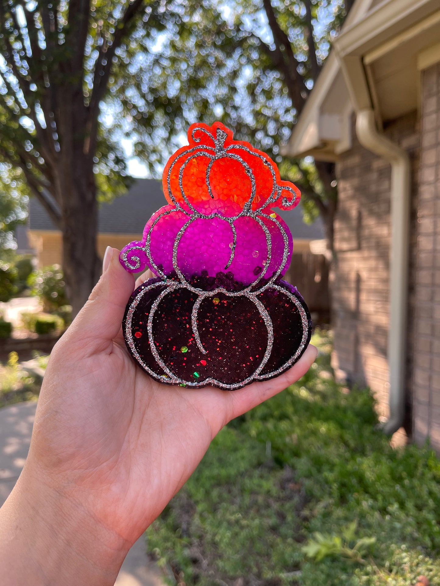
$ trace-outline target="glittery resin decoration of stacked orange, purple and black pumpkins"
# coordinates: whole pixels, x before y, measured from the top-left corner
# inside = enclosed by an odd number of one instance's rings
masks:
[[[300,193],[220,122],[193,124],[188,142],[164,169],[168,205],[121,251],[127,271],[157,275],[128,301],[124,339],[162,383],[233,390],[282,373],[310,341],[309,310],[282,280],[292,235],[273,212]]]

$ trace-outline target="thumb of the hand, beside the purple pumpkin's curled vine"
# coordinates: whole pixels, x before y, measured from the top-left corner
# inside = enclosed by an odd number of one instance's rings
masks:
[[[117,248],[107,247],[103,268],[88,301],[66,332],[66,338],[81,343],[87,353],[101,352],[116,337],[134,289],[134,277],[121,266]]]

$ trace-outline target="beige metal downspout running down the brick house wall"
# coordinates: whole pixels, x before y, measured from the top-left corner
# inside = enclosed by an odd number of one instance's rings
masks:
[[[368,151],[391,163],[390,329],[388,370],[390,417],[385,434],[392,435],[404,422],[405,365],[408,311],[408,257],[410,166],[407,152],[377,130],[374,110],[357,111],[356,134]]]

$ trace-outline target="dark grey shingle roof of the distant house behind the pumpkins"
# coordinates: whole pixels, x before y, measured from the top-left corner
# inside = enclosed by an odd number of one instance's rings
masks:
[[[156,179],[136,179],[125,195],[102,203],[98,211],[98,231],[111,234],[141,234],[154,212],[166,205],[162,183]],[[294,239],[320,240],[324,238],[320,218],[313,224],[304,224],[299,209],[279,210]],[[40,202],[29,199],[29,229],[57,230]]]

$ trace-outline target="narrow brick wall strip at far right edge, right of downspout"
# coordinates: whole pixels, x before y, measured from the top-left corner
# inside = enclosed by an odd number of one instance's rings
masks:
[[[417,222],[414,438],[440,451],[440,64],[422,74]]]

